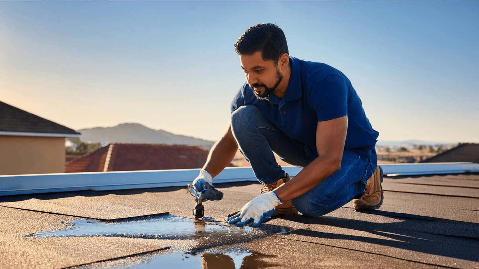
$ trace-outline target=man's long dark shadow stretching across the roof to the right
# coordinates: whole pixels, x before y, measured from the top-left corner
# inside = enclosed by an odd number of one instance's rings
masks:
[[[306,229],[294,230],[291,234],[306,237],[354,240],[479,262],[479,256],[477,255],[479,252],[477,247],[479,224],[477,223],[387,211],[374,211],[372,214],[392,217],[400,221],[379,223],[377,222],[378,219],[375,219],[375,221],[364,221],[332,216],[315,218],[298,216],[288,218],[288,220],[303,224],[327,225],[364,231],[383,238],[326,233]],[[389,239],[384,239],[384,237]],[[468,251],[464,251],[465,248]],[[365,251],[367,252],[367,249]]]

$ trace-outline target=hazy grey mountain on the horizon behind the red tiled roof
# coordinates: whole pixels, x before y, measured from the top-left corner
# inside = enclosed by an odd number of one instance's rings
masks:
[[[115,127],[96,127],[78,130],[83,142],[117,142],[194,145],[211,149],[214,141],[202,140],[190,136],[175,135],[164,130],[149,129],[138,123],[122,123]]]

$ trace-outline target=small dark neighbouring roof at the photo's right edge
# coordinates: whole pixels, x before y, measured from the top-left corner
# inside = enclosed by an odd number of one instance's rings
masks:
[[[433,156],[422,162],[456,162],[456,161],[470,161],[479,163],[479,144],[463,143],[459,146],[444,151],[441,154]]]

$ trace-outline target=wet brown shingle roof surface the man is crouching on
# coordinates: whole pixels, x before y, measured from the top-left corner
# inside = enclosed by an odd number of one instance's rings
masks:
[[[204,203],[205,216],[209,218],[203,230],[202,222],[193,225],[193,220],[191,226],[173,221],[166,223],[178,225],[178,229],[172,230],[180,233],[178,237],[173,233],[177,239],[163,239],[162,235],[168,233],[168,228],[163,226],[156,228],[158,237],[147,237],[150,234],[145,227],[150,226],[144,220],[159,219],[162,215],[158,214],[166,212],[192,218],[196,203],[185,188],[0,197],[0,215],[3,216],[0,218],[0,256],[4,257],[0,259],[0,268],[80,265],[111,268],[115,263],[118,265],[114,268],[148,265],[150,268],[201,268],[209,254],[224,254],[218,257],[223,261],[234,259],[231,262],[235,266],[208,268],[479,267],[478,173],[385,177],[384,201],[378,210],[355,212],[349,202],[320,217],[280,216],[257,229],[245,229],[240,238],[233,233],[236,226],[227,226],[233,231],[231,234],[211,232],[209,227],[226,225],[225,216],[256,197],[262,184],[215,183],[215,186],[224,197]],[[138,218],[140,216],[142,218]],[[92,225],[97,223],[95,219],[103,219],[109,221],[102,222],[108,226],[116,223],[142,226],[135,229],[124,226],[123,235],[25,237],[41,231],[71,228],[73,221],[84,218]],[[283,227],[283,234],[269,233]],[[99,228],[94,226],[94,231]],[[188,231],[196,237],[184,236]],[[261,234],[262,231],[268,234]],[[87,230],[87,235],[89,232],[92,231]],[[246,249],[251,255],[228,257],[230,249]],[[105,265],[102,261],[112,264]]]

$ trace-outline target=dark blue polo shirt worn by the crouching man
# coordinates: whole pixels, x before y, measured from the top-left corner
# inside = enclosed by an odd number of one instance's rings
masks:
[[[273,94],[269,100],[255,97],[245,83],[231,102],[231,112],[244,105],[254,105],[288,136],[305,143],[316,156],[318,121],[348,116],[345,150],[363,158],[371,156],[379,133],[371,127],[349,79],[341,71],[322,63],[289,58],[291,76],[285,97]],[[376,161],[376,160],[375,160]]]

